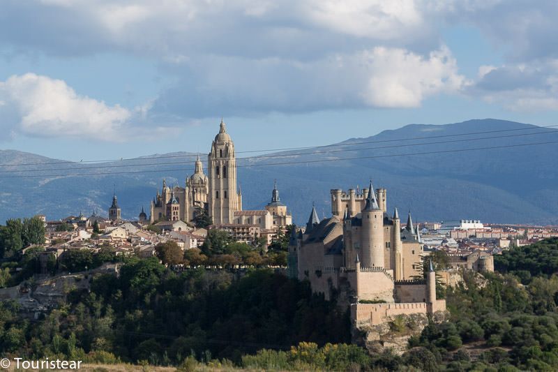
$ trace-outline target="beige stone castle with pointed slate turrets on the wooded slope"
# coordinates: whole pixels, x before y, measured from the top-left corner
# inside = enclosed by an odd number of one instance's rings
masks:
[[[432,265],[422,267],[421,235],[410,211],[402,228],[396,208],[387,214],[384,188],[375,191],[370,182],[362,192],[331,190],[331,212],[319,221],[312,207],[306,229],[292,235],[289,276],[310,281],[326,299],[345,297],[356,327],[445,311]]]

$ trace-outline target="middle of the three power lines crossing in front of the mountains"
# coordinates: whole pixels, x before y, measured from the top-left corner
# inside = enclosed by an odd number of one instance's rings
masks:
[[[390,148],[398,148],[398,147],[414,147],[414,146],[426,146],[430,144],[445,144],[445,143],[455,143],[455,142],[466,142],[466,141],[478,141],[478,140],[492,140],[492,139],[500,139],[500,138],[509,138],[509,137],[523,137],[527,135],[541,135],[541,134],[558,134],[558,131],[544,131],[544,132],[536,132],[536,133],[520,133],[514,135],[499,135],[499,136],[492,136],[492,137],[476,137],[476,138],[464,138],[459,140],[446,140],[446,141],[436,141],[436,142],[424,142],[424,143],[413,143],[413,144],[393,144],[389,146],[380,146],[380,147],[360,147],[358,149],[337,149],[337,150],[329,150],[329,151],[312,151],[312,152],[301,152],[301,153],[292,153],[292,154],[272,154],[272,155],[259,155],[259,156],[246,156],[243,158],[237,158],[237,161],[243,160],[250,160],[250,159],[264,159],[264,158],[285,158],[289,156],[301,156],[301,155],[321,155],[321,154],[332,154],[332,153],[341,153],[341,152],[349,152],[349,151],[363,151],[363,150],[375,150],[375,149],[390,149]],[[207,161],[202,161],[202,163],[207,163]],[[78,165],[79,163],[71,163],[71,165]],[[117,164],[117,165],[105,165],[105,166],[91,166],[91,167],[79,167],[79,168],[52,168],[52,169],[43,169],[43,170],[0,170],[1,173],[17,173],[17,172],[52,172],[56,170],[89,170],[89,169],[107,169],[107,168],[128,168],[128,167],[146,167],[151,165],[186,165],[192,164],[192,161],[174,161],[170,163],[144,163],[144,164]],[[45,164],[47,165],[47,164]],[[49,164],[50,165],[50,164]]]

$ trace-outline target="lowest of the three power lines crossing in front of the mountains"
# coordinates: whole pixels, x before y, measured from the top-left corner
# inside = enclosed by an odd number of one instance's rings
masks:
[[[391,158],[396,156],[420,156],[420,155],[430,155],[430,154],[451,154],[455,152],[465,152],[465,151],[480,151],[480,150],[491,150],[491,149],[507,149],[511,147],[525,147],[525,146],[538,146],[542,144],[555,144],[558,141],[548,141],[548,142],[535,142],[535,143],[523,143],[523,144],[506,144],[502,146],[490,146],[490,147],[476,147],[472,149],[452,149],[452,150],[439,150],[439,151],[425,151],[416,152],[409,154],[389,154],[389,155],[376,155],[376,156],[356,156],[353,158],[338,158],[338,159],[319,159],[319,160],[309,160],[309,161],[286,161],[282,163],[263,163],[263,164],[246,164],[246,165],[236,165],[236,168],[250,168],[250,167],[262,167],[262,166],[273,166],[273,165],[292,165],[292,164],[306,164],[306,163],[329,163],[333,161],[349,161],[349,160],[363,160],[363,159],[374,159],[374,158]],[[27,177],[70,177],[70,176],[98,176],[98,175],[115,175],[115,174],[137,174],[137,173],[153,173],[153,172],[186,172],[190,169],[167,169],[167,170],[137,170],[137,171],[126,171],[126,172],[97,172],[97,173],[87,173],[87,174],[30,174],[30,175],[15,175],[15,176],[0,176],[1,178],[27,178]]]

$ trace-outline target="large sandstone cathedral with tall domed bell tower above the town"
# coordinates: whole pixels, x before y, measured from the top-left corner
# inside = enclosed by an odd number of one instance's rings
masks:
[[[195,171],[186,178],[184,187],[169,187],[163,179],[163,188],[153,198],[150,206],[149,222],[193,221],[198,213],[205,212],[213,225],[232,232],[237,237],[245,231],[266,236],[268,240],[278,228],[292,224],[292,216],[287,206],[280,201],[277,183],[271,202],[265,209],[246,211],[242,209],[242,193],[236,184],[236,154],[234,142],[227,133],[227,126],[221,119],[219,133],[211,143],[207,157],[207,175],[199,156]]]

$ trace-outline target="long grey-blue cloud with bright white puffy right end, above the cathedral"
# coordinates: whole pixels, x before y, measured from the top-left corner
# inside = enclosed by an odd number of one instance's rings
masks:
[[[180,65],[185,76],[153,112],[206,117],[359,107],[416,107],[428,96],[466,84],[442,47],[428,57],[376,47],[315,61],[204,57]]]

